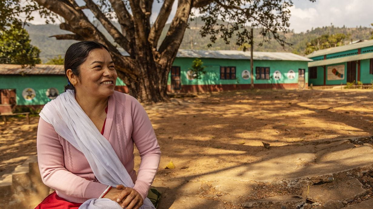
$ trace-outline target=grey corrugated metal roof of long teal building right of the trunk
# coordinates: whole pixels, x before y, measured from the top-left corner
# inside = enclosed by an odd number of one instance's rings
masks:
[[[253,52],[253,56],[254,60],[312,61],[311,59],[290,52]],[[179,49],[176,57],[250,60],[250,51]]]

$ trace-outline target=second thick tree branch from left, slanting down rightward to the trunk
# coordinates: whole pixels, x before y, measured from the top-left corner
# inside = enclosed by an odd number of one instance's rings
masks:
[[[132,53],[131,44],[127,39],[119,32],[117,28],[106,18],[106,16],[101,12],[97,5],[92,0],[84,0],[86,6],[92,11],[95,17],[101,22],[104,28],[109,32],[109,34],[114,38],[114,41],[117,42],[123,49],[128,53]]]

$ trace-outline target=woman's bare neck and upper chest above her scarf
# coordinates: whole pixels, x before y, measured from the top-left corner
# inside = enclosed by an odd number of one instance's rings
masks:
[[[79,94],[79,91],[75,91],[76,102],[78,102],[85,114],[87,114],[87,116],[91,119],[97,117],[99,118],[101,114],[106,114],[105,109],[107,107],[108,98],[109,97],[106,99],[91,97],[87,94],[84,94],[83,96]]]

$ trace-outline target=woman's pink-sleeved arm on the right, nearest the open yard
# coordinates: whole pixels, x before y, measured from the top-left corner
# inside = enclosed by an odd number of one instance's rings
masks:
[[[153,183],[154,176],[157,173],[161,152],[153,126],[144,108],[134,99],[131,109],[133,124],[132,139],[141,157],[134,189],[145,199],[148,195],[150,185]]]

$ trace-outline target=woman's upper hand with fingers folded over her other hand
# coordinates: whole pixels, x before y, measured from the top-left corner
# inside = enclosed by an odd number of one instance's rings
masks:
[[[122,184],[116,186],[116,189],[122,189],[122,193],[117,196],[116,202],[122,201],[123,203],[119,205],[122,208],[127,207],[127,209],[138,209],[144,203],[141,195],[133,188],[125,187]],[[127,196],[127,197],[126,197]],[[126,197],[125,199],[123,199]]]

